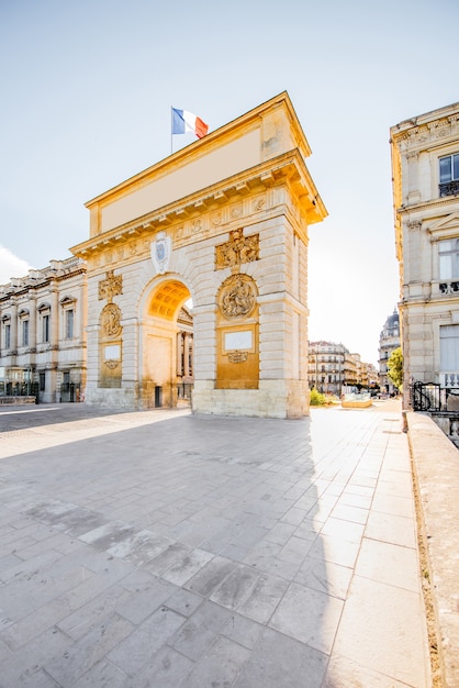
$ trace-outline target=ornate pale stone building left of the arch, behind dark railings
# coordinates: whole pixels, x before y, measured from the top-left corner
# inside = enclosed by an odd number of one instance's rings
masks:
[[[76,257],[0,287],[0,393],[78,401],[86,385],[86,265]]]

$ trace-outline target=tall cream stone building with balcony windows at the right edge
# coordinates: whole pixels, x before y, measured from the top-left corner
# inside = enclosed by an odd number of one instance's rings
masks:
[[[459,103],[391,127],[404,407],[459,382]]]

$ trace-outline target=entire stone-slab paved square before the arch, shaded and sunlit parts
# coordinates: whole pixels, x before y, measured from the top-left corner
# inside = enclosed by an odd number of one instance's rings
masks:
[[[0,409],[1,688],[427,688],[393,402]]]

